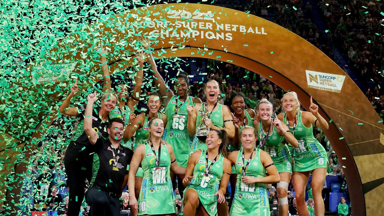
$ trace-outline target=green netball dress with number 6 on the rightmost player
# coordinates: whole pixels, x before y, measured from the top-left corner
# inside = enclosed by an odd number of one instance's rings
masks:
[[[316,168],[327,168],[328,158],[324,147],[313,137],[312,125],[307,128],[301,120],[301,111],[298,115],[297,125],[290,126],[290,131],[299,143],[298,147],[293,149],[293,171],[304,172],[311,171]],[[286,125],[286,113],[284,113],[283,121]]]

